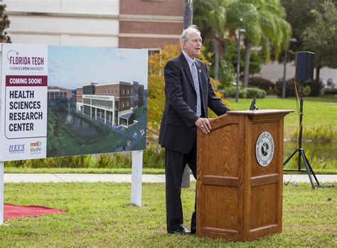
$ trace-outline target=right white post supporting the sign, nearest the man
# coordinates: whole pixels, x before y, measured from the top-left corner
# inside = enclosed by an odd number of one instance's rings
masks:
[[[131,203],[141,207],[143,151],[132,151]]]

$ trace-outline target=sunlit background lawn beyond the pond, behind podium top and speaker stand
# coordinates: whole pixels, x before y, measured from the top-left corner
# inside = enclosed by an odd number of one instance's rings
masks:
[[[252,99],[226,99],[229,107],[233,110],[247,110],[250,108]],[[259,109],[292,109],[294,113],[284,117],[284,137],[289,139],[292,132],[299,129],[299,111],[296,108],[296,99],[266,97],[257,99],[256,106]],[[304,97],[303,107],[304,129],[313,129],[316,126],[331,126],[337,130],[337,97]],[[336,134],[337,135],[337,134]],[[304,136],[303,139],[306,137]],[[333,139],[337,139],[335,136]]]

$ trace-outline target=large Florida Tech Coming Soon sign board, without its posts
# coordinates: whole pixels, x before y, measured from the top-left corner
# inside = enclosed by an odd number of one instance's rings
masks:
[[[147,50],[2,44],[0,161],[146,146]]]

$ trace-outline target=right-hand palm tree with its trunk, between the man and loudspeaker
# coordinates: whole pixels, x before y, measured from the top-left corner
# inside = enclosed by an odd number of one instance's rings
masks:
[[[291,26],[285,21],[285,11],[279,0],[237,0],[228,4],[226,26],[232,37],[239,28],[246,30],[245,70],[243,86],[248,85],[250,50],[252,45],[261,46],[266,60],[270,59],[272,45],[274,57],[289,45]]]

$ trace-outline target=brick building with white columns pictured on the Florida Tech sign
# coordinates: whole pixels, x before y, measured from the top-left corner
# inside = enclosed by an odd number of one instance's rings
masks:
[[[111,126],[129,127],[137,121],[134,112],[144,106],[144,85],[139,82],[112,82],[76,88],[77,112],[100,119]]]

